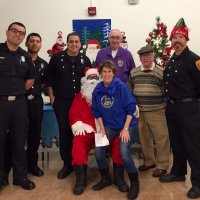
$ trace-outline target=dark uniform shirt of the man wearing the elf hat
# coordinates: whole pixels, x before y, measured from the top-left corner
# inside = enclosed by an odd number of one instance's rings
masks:
[[[174,53],[164,69],[163,80],[170,99],[200,98],[200,57],[188,47],[180,55]]]

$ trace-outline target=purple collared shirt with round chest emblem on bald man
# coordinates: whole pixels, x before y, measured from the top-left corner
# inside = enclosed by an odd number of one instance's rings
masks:
[[[95,67],[99,67],[101,62],[106,60],[114,62],[117,71],[116,77],[127,83],[130,71],[135,67],[131,52],[119,47],[116,56],[113,58],[110,46],[103,48],[97,54]]]

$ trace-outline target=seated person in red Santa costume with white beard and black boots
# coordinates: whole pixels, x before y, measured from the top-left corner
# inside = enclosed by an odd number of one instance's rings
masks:
[[[99,73],[96,68],[87,68],[85,77],[81,79],[81,91],[75,96],[69,111],[69,121],[74,134],[72,148],[72,165],[75,169],[76,183],[74,194],[80,195],[87,185],[87,164],[89,151],[95,145],[94,133],[97,132],[97,124],[92,114],[92,92],[99,82]],[[116,137],[110,144],[110,152],[113,160],[114,180],[121,192],[127,192],[128,186],[124,181],[124,166],[120,157],[119,138]],[[111,185],[112,182],[102,179],[102,188]]]

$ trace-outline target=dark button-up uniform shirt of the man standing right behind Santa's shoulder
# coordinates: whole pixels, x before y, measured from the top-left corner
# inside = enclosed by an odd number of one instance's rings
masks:
[[[69,56],[67,51],[54,54],[48,65],[47,84],[53,87],[56,97],[71,99],[81,87],[81,78],[86,67],[91,67],[89,58],[83,54]]]

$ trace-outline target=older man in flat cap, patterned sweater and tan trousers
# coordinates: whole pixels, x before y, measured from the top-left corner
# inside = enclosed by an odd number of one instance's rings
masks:
[[[131,71],[129,86],[140,110],[138,122],[144,163],[140,171],[155,168],[153,177],[160,177],[169,166],[169,135],[165,118],[163,69],[154,63],[153,49],[144,46],[139,51],[141,65]],[[154,154],[154,143],[157,155]]]

